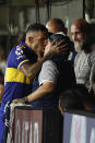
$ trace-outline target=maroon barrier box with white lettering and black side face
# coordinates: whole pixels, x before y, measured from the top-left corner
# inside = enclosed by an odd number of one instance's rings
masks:
[[[15,106],[8,143],[62,143],[62,116],[55,109]]]

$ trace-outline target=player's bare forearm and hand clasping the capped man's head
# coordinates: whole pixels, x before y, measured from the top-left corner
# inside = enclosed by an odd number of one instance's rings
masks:
[[[24,64],[21,67],[21,71],[28,76],[31,80],[33,80],[35,78],[35,75],[39,72],[43,63],[48,60],[51,59],[52,57],[57,57],[59,55],[64,55],[68,45],[62,44],[62,41],[60,41],[57,45],[49,44],[48,45],[48,51],[46,51],[44,58],[39,59],[36,63],[34,64]]]

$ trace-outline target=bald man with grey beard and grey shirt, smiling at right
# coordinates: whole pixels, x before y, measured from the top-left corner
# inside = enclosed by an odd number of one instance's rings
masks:
[[[95,69],[95,41],[92,40],[91,25],[84,19],[71,25],[72,40],[79,52],[74,61],[76,83],[90,87]]]

